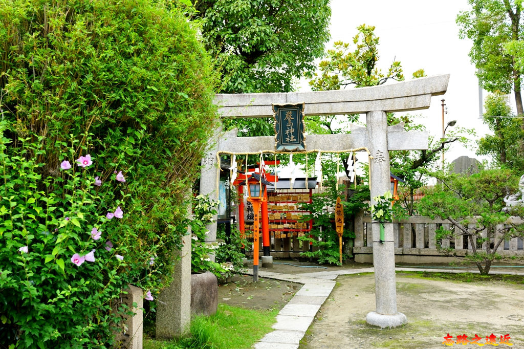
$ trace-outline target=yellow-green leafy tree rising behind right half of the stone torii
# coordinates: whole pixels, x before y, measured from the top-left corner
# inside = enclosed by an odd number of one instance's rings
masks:
[[[399,61],[392,62],[387,72],[377,67],[379,38],[375,36],[375,27],[363,24],[358,26],[357,30],[353,38],[355,45],[353,48],[349,43],[336,41],[334,48],[326,53],[326,60],[320,62],[319,72],[309,71],[305,74],[310,79],[309,84],[312,90],[340,90],[350,85],[359,88],[384,84],[388,80],[404,80]],[[424,70],[417,70],[412,76],[413,78],[423,77],[425,76]],[[348,124],[357,122],[357,120],[358,115],[348,115],[345,120],[332,115],[311,116],[308,117],[305,124],[307,129],[314,133],[338,134],[348,132]],[[425,129],[423,125],[413,125],[409,115],[395,117],[392,113],[388,114],[388,125],[398,123],[403,123],[406,130]],[[413,213],[413,192],[424,184],[423,176],[435,165],[440,151],[447,144],[456,140],[463,143],[467,141],[466,137],[457,135],[457,130],[468,133],[467,130],[456,128],[454,132],[449,133],[451,137],[432,140],[429,150],[390,152],[391,171],[407,181],[409,191],[402,199],[410,214]]]

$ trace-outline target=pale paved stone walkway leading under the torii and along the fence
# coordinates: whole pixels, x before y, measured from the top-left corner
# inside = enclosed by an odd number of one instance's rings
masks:
[[[422,268],[395,268],[396,271],[431,271],[431,272],[464,272],[451,269],[422,269]],[[277,323],[272,328],[275,331],[266,334],[260,342],[255,344],[256,349],[297,349],[305,331],[313,322],[316,313],[326,299],[328,299],[335,279],[339,275],[361,274],[374,272],[374,268],[343,269],[333,271],[304,272],[299,274],[280,274],[278,272],[259,270],[258,276],[269,279],[302,283],[301,289],[283,307],[277,315]],[[478,274],[478,270],[468,270]],[[248,269],[245,274],[253,275]],[[524,275],[524,272],[490,271],[490,274]]]

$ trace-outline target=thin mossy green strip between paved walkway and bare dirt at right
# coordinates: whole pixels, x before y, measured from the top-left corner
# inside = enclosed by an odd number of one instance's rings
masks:
[[[485,282],[485,281],[504,281],[515,285],[524,285],[524,276],[521,275],[479,275],[472,272],[434,272],[434,271],[400,271],[397,276],[422,278],[430,280],[446,280],[454,282]]]

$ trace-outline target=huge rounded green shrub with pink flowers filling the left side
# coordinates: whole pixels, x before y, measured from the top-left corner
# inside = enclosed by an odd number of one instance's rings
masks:
[[[110,346],[170,281],[214,85],[162,2],[0,0],[0,347]]]

